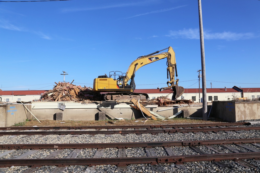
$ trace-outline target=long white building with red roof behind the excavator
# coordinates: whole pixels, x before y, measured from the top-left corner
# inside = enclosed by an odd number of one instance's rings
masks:
[[[207,102],[211,101],[228,101],[236,98],[247,98],[249,100],[260,98],[260,88],[207,88]],[[237,91],[241,90],[241,91]],[[29,90],[29,91],[0,91],[0,101],[17,102],[17,101],[33,101],[41,98],[46,90]],[[172,98],[172,90],[167,89],[159,91],[159,89],[135,89],[137,93],[147,93],[149,99],[155,99],[161,96]],[[202,89],[186,88],[184,93],[178,98],[183,100],[193,100],[199,102],[199,96],[202,98]]]

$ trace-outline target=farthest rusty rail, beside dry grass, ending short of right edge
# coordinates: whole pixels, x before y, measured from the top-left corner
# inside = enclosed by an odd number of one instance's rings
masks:
[[[124,129],[124,128],[170,128],[170,127],[207,127],[207,126],[243,126],[250,122],[235,123],[205,123],[205,124],[165,124],[165,125],[135,125],[135,126],[50,126],[50,127],[0,127],[0,130],[50,130],[50,129]]]

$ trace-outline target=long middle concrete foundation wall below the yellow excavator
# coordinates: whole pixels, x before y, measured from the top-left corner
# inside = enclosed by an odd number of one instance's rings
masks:
[[[57,112],[63,112],[63,120],[98,120],[99,112],[105,112],[106,118],[137,119],[143,117],[139,110],[130,106],[129,103],[116,104],[106,103],[75,103],[75,102],[33,102],[32,113],[39,120],[55,120]],[[65,109],[59,109],[59,105],[64,104]],[[176,108],[173,106],[157,107],[148,105],[146,109],[156,112],[165,117],[171,117],[180,110],[189,110],[192,117],[202,117],[202,106],[188,106]],[[174,109],[173,109],[174,108]],[[208,107],[210,109],[210,106]],[[158,110],[162,110],[157,112]],[[178,116],[178,117],[181,117]]]

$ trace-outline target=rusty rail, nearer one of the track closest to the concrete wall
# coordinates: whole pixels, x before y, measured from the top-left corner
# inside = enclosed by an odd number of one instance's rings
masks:
[[[3,135],[83,135],[83,134],[145,134],[145,133],[187,133],[187,132],[220,132],[220,131],[238,131],[238,130],[260,130],[256,127],[217,127],[217,128],[185,128],[185,129],[147,129],[147,130],[99,130],[99,131],[16,131],[0,132]]]

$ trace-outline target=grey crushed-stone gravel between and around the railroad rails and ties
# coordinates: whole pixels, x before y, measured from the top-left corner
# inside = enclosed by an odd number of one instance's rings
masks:
[[[252,120],[251,120],[252,121]],[[260,124],[254,124],[251,126],[260,126]],[[160,133],[156,135],[152,134],[113,134],[111,137],[106,137],[105,135],[98,134],[93,137],[89,137],[89,135],[80,135],[78,137],[73,137],[73,135],[64,135],[59,137],[59,135],[46,135],[41,137],[41,135],[33,135],[29,137],[24,137],[24,135],[10,137],[10,136],[0,136],[1,144],[37,144],[37,143],[118,143],[118,142],[154,142],[154,141],[190,141],[190,140],[217,140],[217,139],[243,139],[243,138],[259,138],[260,132],[258,130],[251,130],[251,131],[241,131],[242,133],[174,133],[170,135],[168,133]],[[247,144],[250,147],[257,148],[251,144]],[[236,149],[241,151],[248,150],[236,146],[230,145]],[[190,147],[171,147],[172,150],[175,152],[176,155],[190,155],[190,154],[198,154],[196,151],[192,150]],[[205,153],[212,154],[215,153],[214,151],[210,150],[205,146],[199,146],[199,149],[204,151]],[[220,147],[218,147],[220,148]],[[157,156],[166,156],[167,153],[162,147],[154,147],[154,152]],[[220,148],[226,153],[232,153],[230,150],[225,148]],[[260,148],[258,148],[260,149]],[[92,158],[95,154],[97,149],[82,149],[79,153],[77,158]],[[0,150],[0,154],[6,150]],[[2,157],[1,159],[14,159],[22,155],[23,153],[27,152],[28,150],[21,149],[15,150],[12,153]],[[43,149],[38,151],[37,153],[28,156],[27,158],[44,158],[51,154],[55,149]],[[56,158],[66,158],[73,149],[64,149]],[[106,148],[103,151],[101,157],[117,157],[118,149],[116,148]],[[146,157],[147,154],[145,153],[144,148],[127,148],[126,149],[126,157]],[[258,166],[260,166],[260,162],[255,160],[245,160],[248,163],[255,165],[257,168],[245,168],[242,165],[238,164],[235,161],[223,161],[225,164],[229,165],[231,168],[222,168],[217,166],[212,162],[187,162],[184,163],[184,167],[180,165],[175,165],[173,163],[164,163],[160,165],[150,165],[150,164],[131,164],[127,165],[127,170],[123,170],[120,172],[160,172],[170,173],[170,172],[260,172]],[[160,168],[158,168],[160,167]],[[29,167],[8,167],[8,168],[0,168],[0,172],[6,173],[18,173],[24,172]],[[35,170],[34,172],[52,172],[56,167],[55,166],[42,166]],[[68,166],[62,172],[85,172],[88,166],[81,166],[81,165],[72,165]],[[88,172],[88,171],[86,171]],[[116,165],[97,165],[95,171],[97,172],[118,172]],[[159,172],[159,171],[158,171]]]

